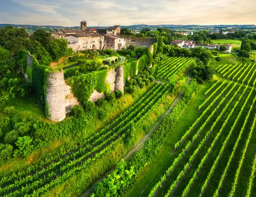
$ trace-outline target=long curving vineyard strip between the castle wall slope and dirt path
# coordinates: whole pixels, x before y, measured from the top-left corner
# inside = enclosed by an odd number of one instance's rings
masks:
[[[148,117],[162,103],[169,89],[169,85],[154,85],[134,106],[84,142],[84,146],[70,147],[70,152],[60,153],[17,174],[2,177],[0,196],[40,196],[77,171],[87,168],[122,140],[132,125],[137,126]]]

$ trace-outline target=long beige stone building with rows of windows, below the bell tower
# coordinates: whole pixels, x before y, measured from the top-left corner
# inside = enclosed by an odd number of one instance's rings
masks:
[[[69,34],[64,37],[73,51],[104,49],[104,36],[98,33]]]

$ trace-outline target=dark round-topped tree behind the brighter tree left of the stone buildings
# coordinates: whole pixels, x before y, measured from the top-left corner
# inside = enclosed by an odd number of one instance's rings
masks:
[[[37,29],[30,37],[30,40],[38,41],[47,51],[49,51],[52,35],[49,32],[46,32],[44,29]]]

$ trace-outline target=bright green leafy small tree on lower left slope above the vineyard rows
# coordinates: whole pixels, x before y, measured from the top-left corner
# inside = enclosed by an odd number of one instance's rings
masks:
[[[15,143],[18,149],[14,151],[14,155],[28,157],[33,150],[32,141],[33,139],[29,136],[18,137],[18,140]]]

